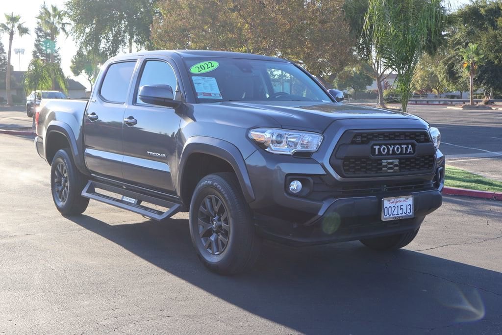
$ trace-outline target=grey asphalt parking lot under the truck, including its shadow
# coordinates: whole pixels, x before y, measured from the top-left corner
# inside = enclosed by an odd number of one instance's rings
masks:
[[[0,333],[502,333],[502,202],[445,197],[398,252],[266,244],[221,277],[186,213],[65,218],[32,138],[0,134],[0,157]]]

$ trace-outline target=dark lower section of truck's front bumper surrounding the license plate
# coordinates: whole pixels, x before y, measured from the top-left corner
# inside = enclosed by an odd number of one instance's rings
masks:
[[[439,208],[439,190],[412,192],[415,217],[382,221],[382,198],[378,196],[334,199],[306,224],[258,216],[257,231],[263,237],[292,246],[362,240],[415,231],[425,215]]]

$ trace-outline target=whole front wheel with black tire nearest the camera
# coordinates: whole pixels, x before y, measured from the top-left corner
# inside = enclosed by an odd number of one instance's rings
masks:
[[[261,240],[233,173],[199,181],[190,203],[190,236],[197,256],[213,272],[232,275],[253,267]]]

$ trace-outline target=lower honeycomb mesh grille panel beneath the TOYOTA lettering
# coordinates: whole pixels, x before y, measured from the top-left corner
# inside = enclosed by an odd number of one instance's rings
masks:
[[[369,159],[369,158],[343,159],[343,172],[345,172],[346,175],[364,175],[364,174],[388,175],[394,172],[427,173],[430,172],[433,167],[434,167],[434,155],[400,158],[395,160]]]

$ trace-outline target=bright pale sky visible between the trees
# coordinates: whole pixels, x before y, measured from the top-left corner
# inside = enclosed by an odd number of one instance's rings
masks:
[[[93,1],[93,0],[89,0]],[[55,5],[59,9],[63,9],[66,0],[46,0],[45,3],[50,5]],[[469,3],[469,0],[449,0],[452,9],[458,8],[462,5]],[[14,66],[15,71],[26,71],[30,60],[32,59],[33,43],[35,41],[35,27],[37,26],[37,15],[40,12],[40,6],[44,2],[40,0],[2,0],[0,5],[0,20],[5,21],[2,14],[4,13],[14,13],[14,15],[21,15],[21,21],[25,23],[25,26],[30,29],[30,35],[25,35],[19,37],[14,36],[12,45],[12,57],[11,64]],[[70,27],[71,30],[71,27]],[[2,43],[7,52],[9,48],[9,36],[7,34],[2,34]],[[66,37],[61,34],[57,39],[57,46],[60,48],[61,54],[61,67],[66,76],[73,78],[81,82],[87,89],[90,88],[89,82],[83,76],[75,77],[70,71],[71,58],[77,52],[77,46],[73,40],[71,34]],[[14,49],[25,49],[24,55],[16,55]]]

